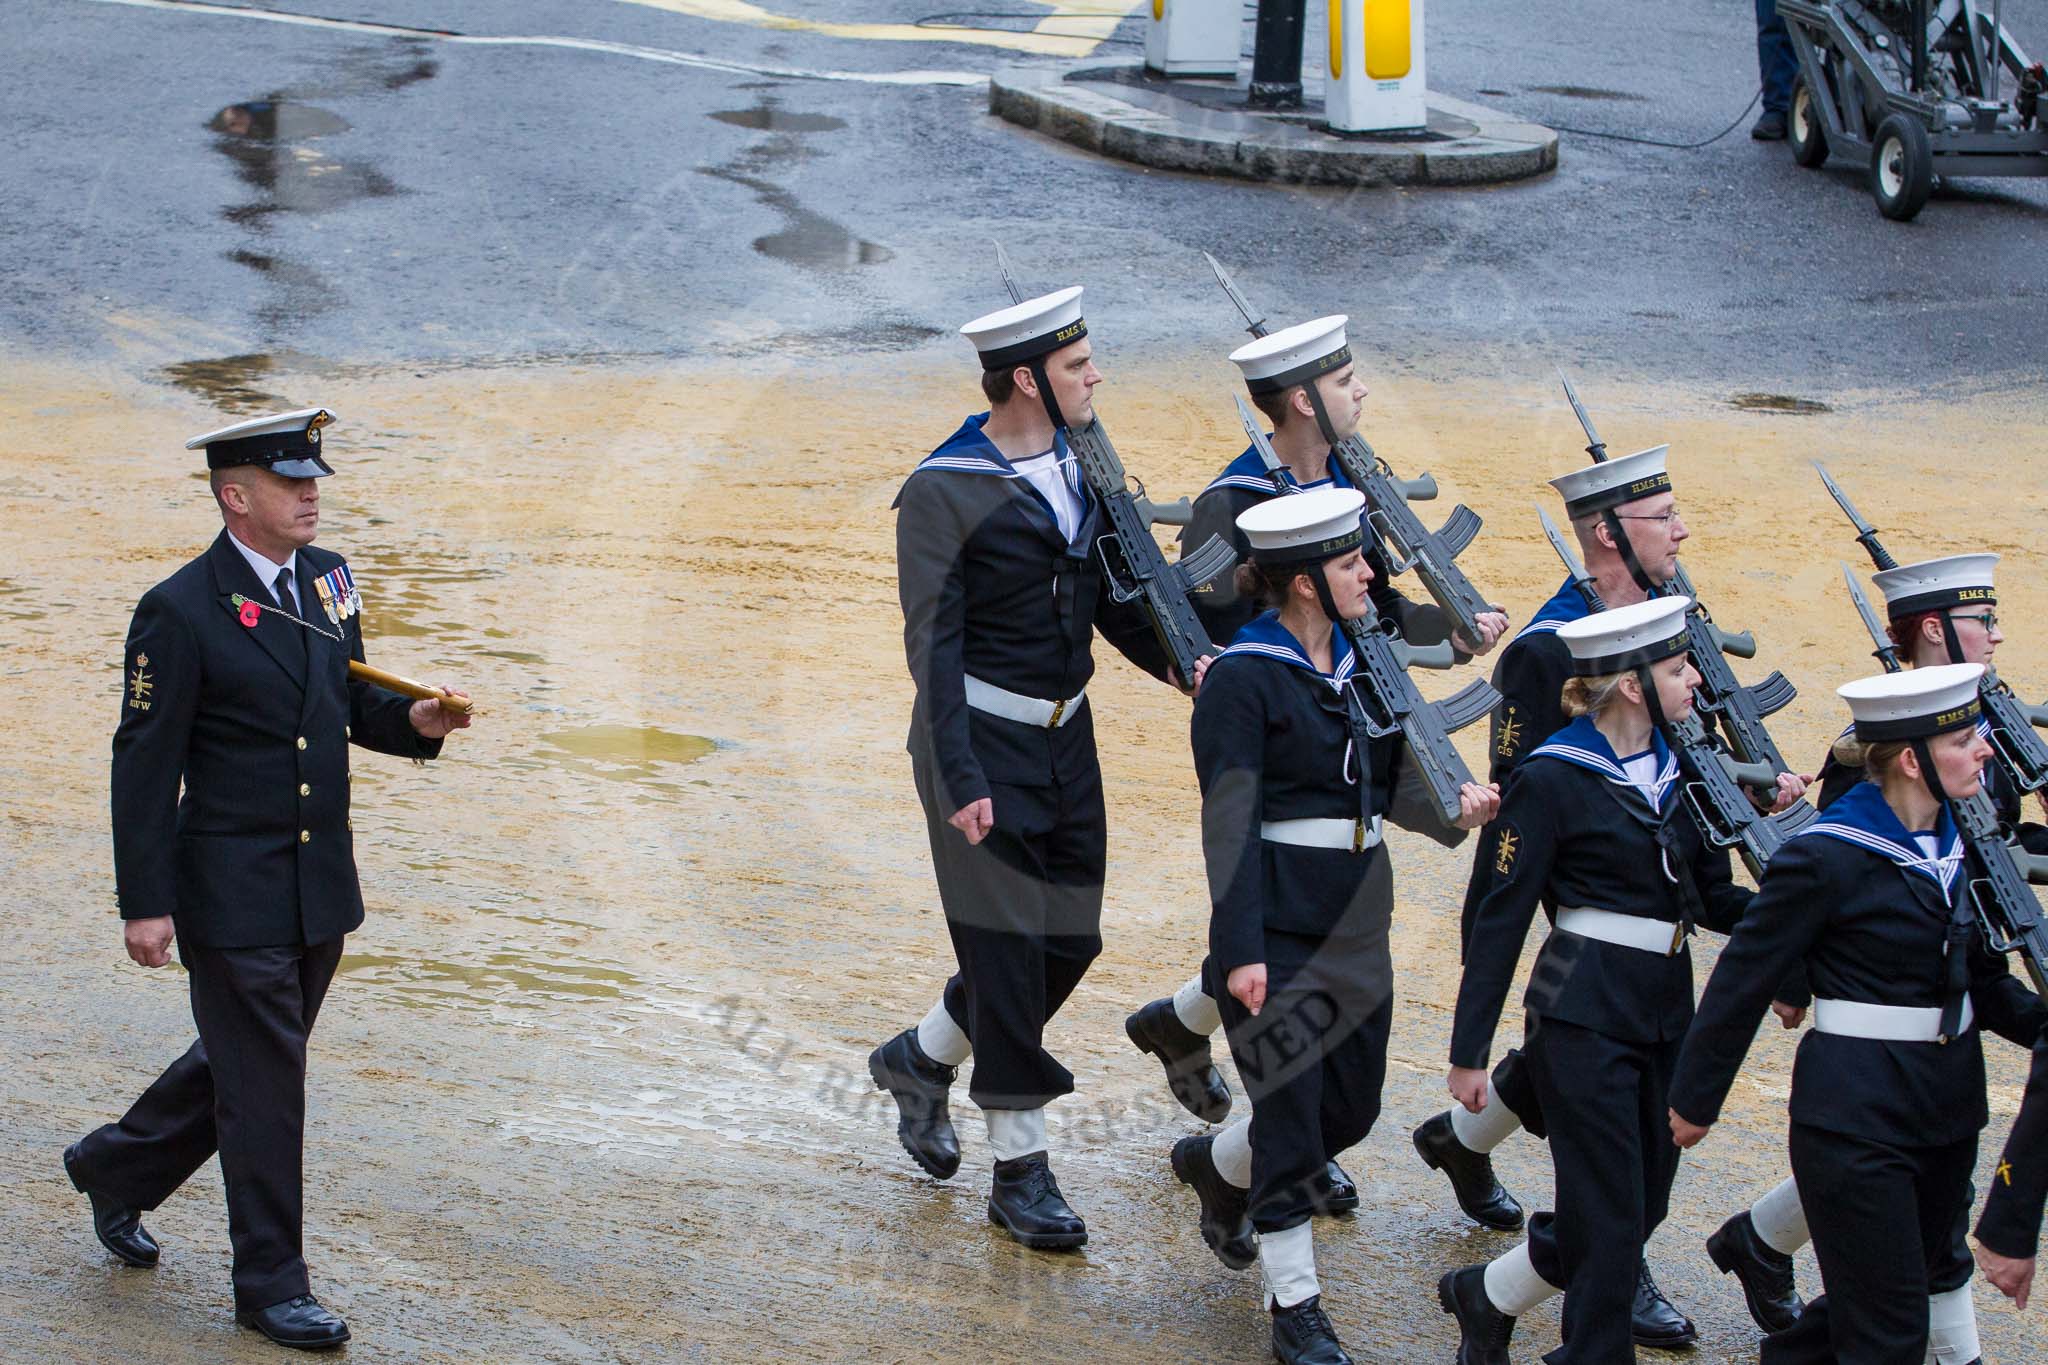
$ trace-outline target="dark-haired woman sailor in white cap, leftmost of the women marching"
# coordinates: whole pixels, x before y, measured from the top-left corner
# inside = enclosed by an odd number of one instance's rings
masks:
[[[1174,1173],[1194,1187],[1217,1257],[1257,1261],[1280,1361],[1350,1359],[1321,1308],[1311,1214],[1329,1156],[1380,1111],[1393,1023],[1382,825],[1452,845],[1499,802],[1468,784],[1446,829],[1399,737],[1368,735],[1337,628],[1364,616],[1372,581],[1362,503],[1356,489],[1317,489],[1239,516],[1251,561],[1237,587],[1266,610],[1194,702],[1210,990],[1251,1117],[1184,1138]]]

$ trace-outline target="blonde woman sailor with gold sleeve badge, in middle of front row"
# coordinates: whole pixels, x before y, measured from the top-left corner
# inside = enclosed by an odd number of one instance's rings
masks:
[[[1516,1250],[1444,1277],[1460,1361],[1505,1361],[1513,1320],[1561,1289],[1565,1340],[1544,1359],[1634,1359],[1642,1244],[1677,1173],[1665,1087],[1692,1019],[1688,939],[1700,925],[1733,929],[1749,905],[1729,851],[1688,814],[1665,737],[1700,681],[1686,653],[1690,606],[1653,598],[1556,628],[1575,718],[1513,769],[1487,829],[1448,1081],[1466,1113],[1499,1103],[1487,1052],[1542,905],[1552,933],[1522,1001],[1524,1062],[1548,1124],[1556,1203]]]

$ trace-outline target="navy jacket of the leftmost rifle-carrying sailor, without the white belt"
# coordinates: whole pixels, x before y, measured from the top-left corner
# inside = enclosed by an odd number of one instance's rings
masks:
[[[1094,677],[1094,632],[1153,677],[1167,657],[1151,618],[1104,591],[1096,540],[1102,508],[1061,469],[1081,499],[1069,542],[1053,508],[969,417],[897,493],[897,591],[903,651],[918,686],[907,749],[934,774],[942,802],[958,810],[991,782],[1055,786],[1096,763],[1090,706],[1065,726],[1022,724],[973,710],[967,675],[1028,698],[1061,702]],[[1067,460],[1065,434],[1055,450]]]

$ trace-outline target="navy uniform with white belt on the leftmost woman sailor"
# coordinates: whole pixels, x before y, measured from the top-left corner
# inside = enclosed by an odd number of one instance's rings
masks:
[[[1260,1232],[1305,1224],[1329,1156],[1380,1111],[1393,1025],[1384,823],[1464,839],[1438,819],[1399,739],[1356,729],[1341,630],[1331,655],[1331,673],[1319,671],[1266,612],[1217,655],[1190,722],[1212,907],[1206,984],[1251,1097]],[[1225,988],[1253,962],[1268,972],[1257,1017]]]

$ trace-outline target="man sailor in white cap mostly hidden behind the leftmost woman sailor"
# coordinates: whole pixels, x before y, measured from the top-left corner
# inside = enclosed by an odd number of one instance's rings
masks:
[[[1278,485],[1255,446],[1247,446],[1194,499],[1194,518],[1180,536],[1182,553],[1223,536],[1247,559],[1245,532],[1237,518],[1247,508],[1278,497],[1284,491],[1350,487],[1333,448],[1358,432],[1366,385],[1358,377],[1346,340],[1348,317],[1331,315],[1282,327],[1266,338],[1237,348],[1237,362],[1251,391],[1251,401],[1274,424],[1272,446],[1280,456]],[[1452,639],[1448,614],[1436,604],[1415,604],[1393,587],[1386,559],[1368,538],[1366,559],[1372,565],[1372,604],[1395,624],[1403,639],[1434,645]],[[1212,641],[1231,641],[1257,616],[1257,604],[1241,596],[1229,577],[1217,577],[1190,598]],[[1460,653],[1485,653],[1507,630],[1503,612],[1483,612],[1485,632],[1479,641],[1458,641]],[[1139,1007],[1124,1019],[1124,1033],[1139,1050],[1153,1054],[1165,1066],[1167,1087],[1190,1113],[1221,1121],[1231,1111],[1231,1091],[1210,1058],[1208,1036],[1219,1027],[1217,1003],[1202,988],[1198,972],[1171,997]],[[1331,1154],[1335,1156],[1335,1154]],[[1358,1187],[1329,1162],[1327,1189],[1321,1207],[1343,1212],[1358,1207]]]

